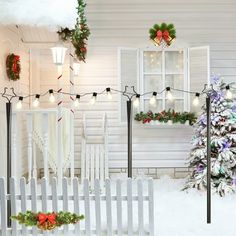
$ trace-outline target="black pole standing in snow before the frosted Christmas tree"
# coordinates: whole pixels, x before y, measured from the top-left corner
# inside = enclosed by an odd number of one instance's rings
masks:
[[[211,223],[211,98],[206,98],[207,108],[207,224]]]

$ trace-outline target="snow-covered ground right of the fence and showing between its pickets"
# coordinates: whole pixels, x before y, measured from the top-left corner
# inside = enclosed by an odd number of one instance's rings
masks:
[[[112,181],[112,183],[114,183]],[[125,183],[125,181],[124,181]],[[236,194],[220,198],[212,196],[212,223],[206,223],[206,192],[191,190],[188,193],[181,191],[184,180],[173,180],[162,177],[154,180],[155,198],[155,235],[156,236],[235,236],[236,235]],[[122,191],[126,192],[125,184]],[[147,186],[145,186],[145,191]],[[50,192],[50,191],[49,191]],[[136,192],[134,183],[133,192]],[[115,186],[112,184],[112,194],[115,194]],[[49,204],[51,205],[51,203]],[[73,211],[73,203],[70,202],[70,211]],[[112,208],[115,208],[114,206]],[[137,205],[134,203],[134,215],[137,218]],[[50,206],[49,206],[50,208]],[[91,205],[92,225],[95,226],[94,206]],[[123,227],[127,227],[126,206],[123,206]],[[40,207],[38,208],[40,209]],[[106,228],[105,204],[102,209],[102,228]],[[147,207],[144,207],[147,209]],[[50,209],[49,209],[50,210]],[[81,213],[84,212],[81,204]],[[144,213],[147,223],[148,215]],[[113,227],[116,228],[116,210],[113,215]],[[137,220],[137,219],[136,219]],[[135,219],[134,219],[135,221]],[[137,227],[137,222],[134,222]],[[145,224],[145,228],[147,225]],[[84,221],[81,222],[84,228]]]

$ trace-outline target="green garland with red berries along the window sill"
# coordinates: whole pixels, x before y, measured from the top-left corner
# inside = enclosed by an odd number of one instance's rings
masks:
[[[172,121],[173,123],[184,124],[186,121],[189,121],[189,124],[193,125],[197,117],[193,112],[175,112],[169,109],[168,111],[158,113],[153,113],[152,111],[148,111],[147,113],[140,112],[135,115],[135,120],[143,124],[150,123],[151,121],[159,121],[161,123]]]

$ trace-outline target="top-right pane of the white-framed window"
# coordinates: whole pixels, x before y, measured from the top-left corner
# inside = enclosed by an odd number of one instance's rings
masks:
[[[165,63],[167,74],[179,74],[184,72],[183,51],[165,52]]]

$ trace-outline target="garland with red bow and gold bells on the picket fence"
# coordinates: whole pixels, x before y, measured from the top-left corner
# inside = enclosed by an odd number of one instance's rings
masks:
[[[37,226],[41,230],[52,230],[62,225],[76,224],[83,220],[84,216],[65,211],[58,213],[34,213],[27,211],[26,213],[20,212],[17,216],[12,216],[11,218],[25,226]]]

